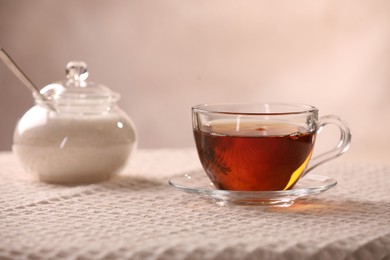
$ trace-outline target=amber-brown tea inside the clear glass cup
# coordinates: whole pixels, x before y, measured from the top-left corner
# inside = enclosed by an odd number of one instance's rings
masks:
[[[200,161],[218,189],[291,189],[305,170],[315,132],[280,123],[215,123],[194,130]]]

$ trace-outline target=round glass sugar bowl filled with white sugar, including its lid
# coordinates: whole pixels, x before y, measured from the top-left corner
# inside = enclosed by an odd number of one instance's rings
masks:
[[[69,62],[67,79],[44,87],[42,100],[16,125],[13,152],[26,171],[56,184],[104,181],[136,148],[136,130],[117,106],[119,94],[86,81],[84,62]]]

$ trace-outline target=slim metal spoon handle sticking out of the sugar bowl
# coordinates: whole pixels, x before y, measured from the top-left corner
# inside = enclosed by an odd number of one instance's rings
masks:
[[[16,65],[16,63],[12,60],[12,58],[8,55],[8,53],[0,47],[0,58],[7,65],[7,67],[15,74],[15,76],[23,82],[23,84],[30,89],[33,93],[35,93],[36,97],[38,97],[43,104],[49,108],[50,110],[56,111],[54,106],[48,104],[45,101],[48,99],[39,92],[39,89],[32,83],[32,81],[23,73],[23,71]]]

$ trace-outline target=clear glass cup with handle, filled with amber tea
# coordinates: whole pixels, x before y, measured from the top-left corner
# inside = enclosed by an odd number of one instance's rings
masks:
[[[338,116],[318,118],[310,105],[202,104],[192,108],[192,124],[202,166],[218,189],[292,189],[318,165],[349,148],[351,133]],[[336,125],[333,149],[312,158],[318,133]]]

